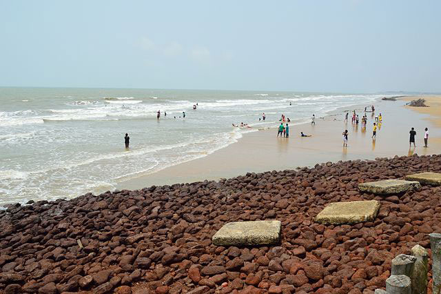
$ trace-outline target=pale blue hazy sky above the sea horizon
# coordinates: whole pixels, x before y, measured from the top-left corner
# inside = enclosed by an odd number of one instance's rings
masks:
[[[441,1],[0,0],[0,86],[441,92]]]

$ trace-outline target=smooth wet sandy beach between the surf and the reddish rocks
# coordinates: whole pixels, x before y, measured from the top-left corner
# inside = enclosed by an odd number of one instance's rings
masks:
[[[375,140],[371,139],[373,114],[367,112],[367,127],[362,128],[361,123],[358,126],[351,124],[350,117],[349,122],[345,123],[344,112],[340,111],[325,119],[316,119],[316,126],[311,124],[290,126],[288,139],[277,138],[276,129],[248,133],[237,143],[206,157],[127,180],[117,188],[135,189],[151,185],[220,179],[244,175],[248,172],[260,173],[267,170],[314,166],[327,161],[436,154],[441,147],[441,139],[439,139],[441,132],[435,129],[437,126],[435,124],[441,125],[441,104],[438,104],[438,101],[431,103],[433,103],[432,110],[418,108],[415,111],[414,108],[404,107],[404,99],[378,101],[376,115],[381,112],[383,119]],[[363,109],[364,107],[357,108],[360,119],[364,113]],[[437,118],[435,114],[440,116]],[[417,131],[416,148],[409,148],[411,127]],[[431,130],[429,148],[422,147],[425,127]],[[342,132],[345,129],[349,131],[347,148],[342,147]],[[300,137],[300,131],[312,137]]]

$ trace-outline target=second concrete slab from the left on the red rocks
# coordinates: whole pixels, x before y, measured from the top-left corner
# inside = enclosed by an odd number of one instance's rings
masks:
[[[328,204],[317,216],[315,221],[320,224],[357,224],[373,221],[380,210],[380,202],[351,201]]]

